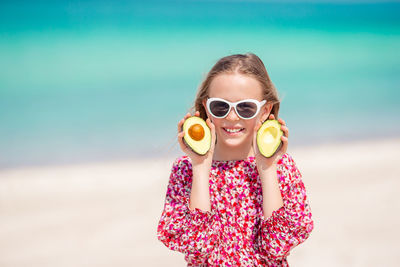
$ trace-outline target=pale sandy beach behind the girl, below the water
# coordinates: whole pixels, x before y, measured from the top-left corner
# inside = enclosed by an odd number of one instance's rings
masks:
[[[315,223],[291,266],[398,266],[400,139],[290,148]],[[0,170],[0,266],[185,266],[157,240],[173,158]]]

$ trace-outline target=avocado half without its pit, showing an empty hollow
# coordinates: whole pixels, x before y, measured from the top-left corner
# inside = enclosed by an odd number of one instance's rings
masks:
[[[267,120],[257,132],[257,146],[260,153],[266,157],[272,157],[281,146],[281,124],[277,120]]]

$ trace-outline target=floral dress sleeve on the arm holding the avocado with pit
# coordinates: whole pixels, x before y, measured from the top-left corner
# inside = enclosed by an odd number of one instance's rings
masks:
[[[213,211],[189,209],[192,168],[188,158],[178,158],[172,167],[157,237],[169,249],[185,254],[190,264],[204,263],[216,244]]]

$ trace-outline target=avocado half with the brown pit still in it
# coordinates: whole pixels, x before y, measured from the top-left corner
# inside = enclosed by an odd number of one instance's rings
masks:
[[[187,118],[183,123],[183,140],[195,153],[204,155],[211,147],[211,131],[206,122],[197,116]]]

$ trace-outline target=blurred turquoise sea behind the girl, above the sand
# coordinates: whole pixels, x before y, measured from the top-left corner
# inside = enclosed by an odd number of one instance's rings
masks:
[[[400,3],[2,1],[0,168],[179,153],[220,58],[253,52],[290,145],[400,135]]]

